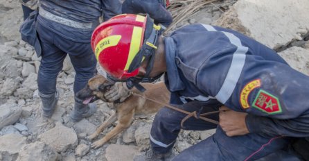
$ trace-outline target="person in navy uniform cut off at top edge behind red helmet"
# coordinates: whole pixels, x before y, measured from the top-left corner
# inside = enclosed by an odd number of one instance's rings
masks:
[[[123,13],[147,13],[155,24],[161,24],[166,29],[173,22],[172,15],[166,10],[167,0],[125,0],[122,4]]]

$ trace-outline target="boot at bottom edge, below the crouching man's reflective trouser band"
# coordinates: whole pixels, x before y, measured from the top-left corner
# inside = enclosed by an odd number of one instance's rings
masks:
[[[170,161],[175,157],[175,153],[173,151],[169,151],[168,153],[157,153],[152,149],[148,149],[148,151],[144,151],[139,155],[135,155],[134,161]]]

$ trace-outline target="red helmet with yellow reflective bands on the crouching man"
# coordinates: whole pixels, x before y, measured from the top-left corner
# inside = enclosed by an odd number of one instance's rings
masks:
[[[94,30],[91,47],[98,63],[108,74],[117,79],[126,79],[139,73],[139,66],[145,56],[138,56],[139,59],[136,56],[141,55],[139,53],[143,44],[157,49],[154,42],[145,40],[145,36],[151,37],[151,34],[145,32],[152,32],[146,31],[148,21],[151,22],[148,17],[141,15],[123,14],[112,17]],[[159,28],[153,22],[150,25],[151,28]]]

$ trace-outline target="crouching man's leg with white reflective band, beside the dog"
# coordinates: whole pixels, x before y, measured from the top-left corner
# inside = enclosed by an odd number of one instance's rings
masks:
[[[200,102],[192,101],[184,105],[177,105],[177,108],[186,110],[188,112],[197,111],[202,113],[213,112],[218,110],[220,105],[205,106]],[[191,117],[184,122],[184,128],[181,127],[181,121],[187,115],[172,110],[170,108],[162,108],[154,117],[152,128],[150,131],[150,142],[152,149],[157,153],[167,153],[173,148],[175,140],[180,129],[184,130],[208,130],[216,128],[217,125],[204,121],[202,119],[195,119]],[[209,119],[218,121],[218,113],[207,116]]]

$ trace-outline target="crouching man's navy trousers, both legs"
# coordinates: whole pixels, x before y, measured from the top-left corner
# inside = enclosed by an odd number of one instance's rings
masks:
[[[189,112],[197,111],[200,113],[218,110],[218,106],[206,107],[197,101],[177,107]],[[150,142],[154,151],[166,153],[173,148],[178,133],[182,129],[180,123],[184,117],[186,117],[185,114],[170,108],[159,110],[150,132]],[[218,121],[219,117],[218,114],[215,114],[208,118]],[[267,137],[256,133],[228,137],[220,126],[217,127],[215,124],[194,117],[184,122],[183,129],[209,130],[211,128],[217,128],[214,135],[182,151],[173,160],[258,160],[274,152],[280,153],[275,155],[278,158],[284,156],[281,158],[283,160],[299,160],[296,156],[281,151],[288,146],[290,140],[288,137]],[[274,157],[274,155],[270,156]]]

